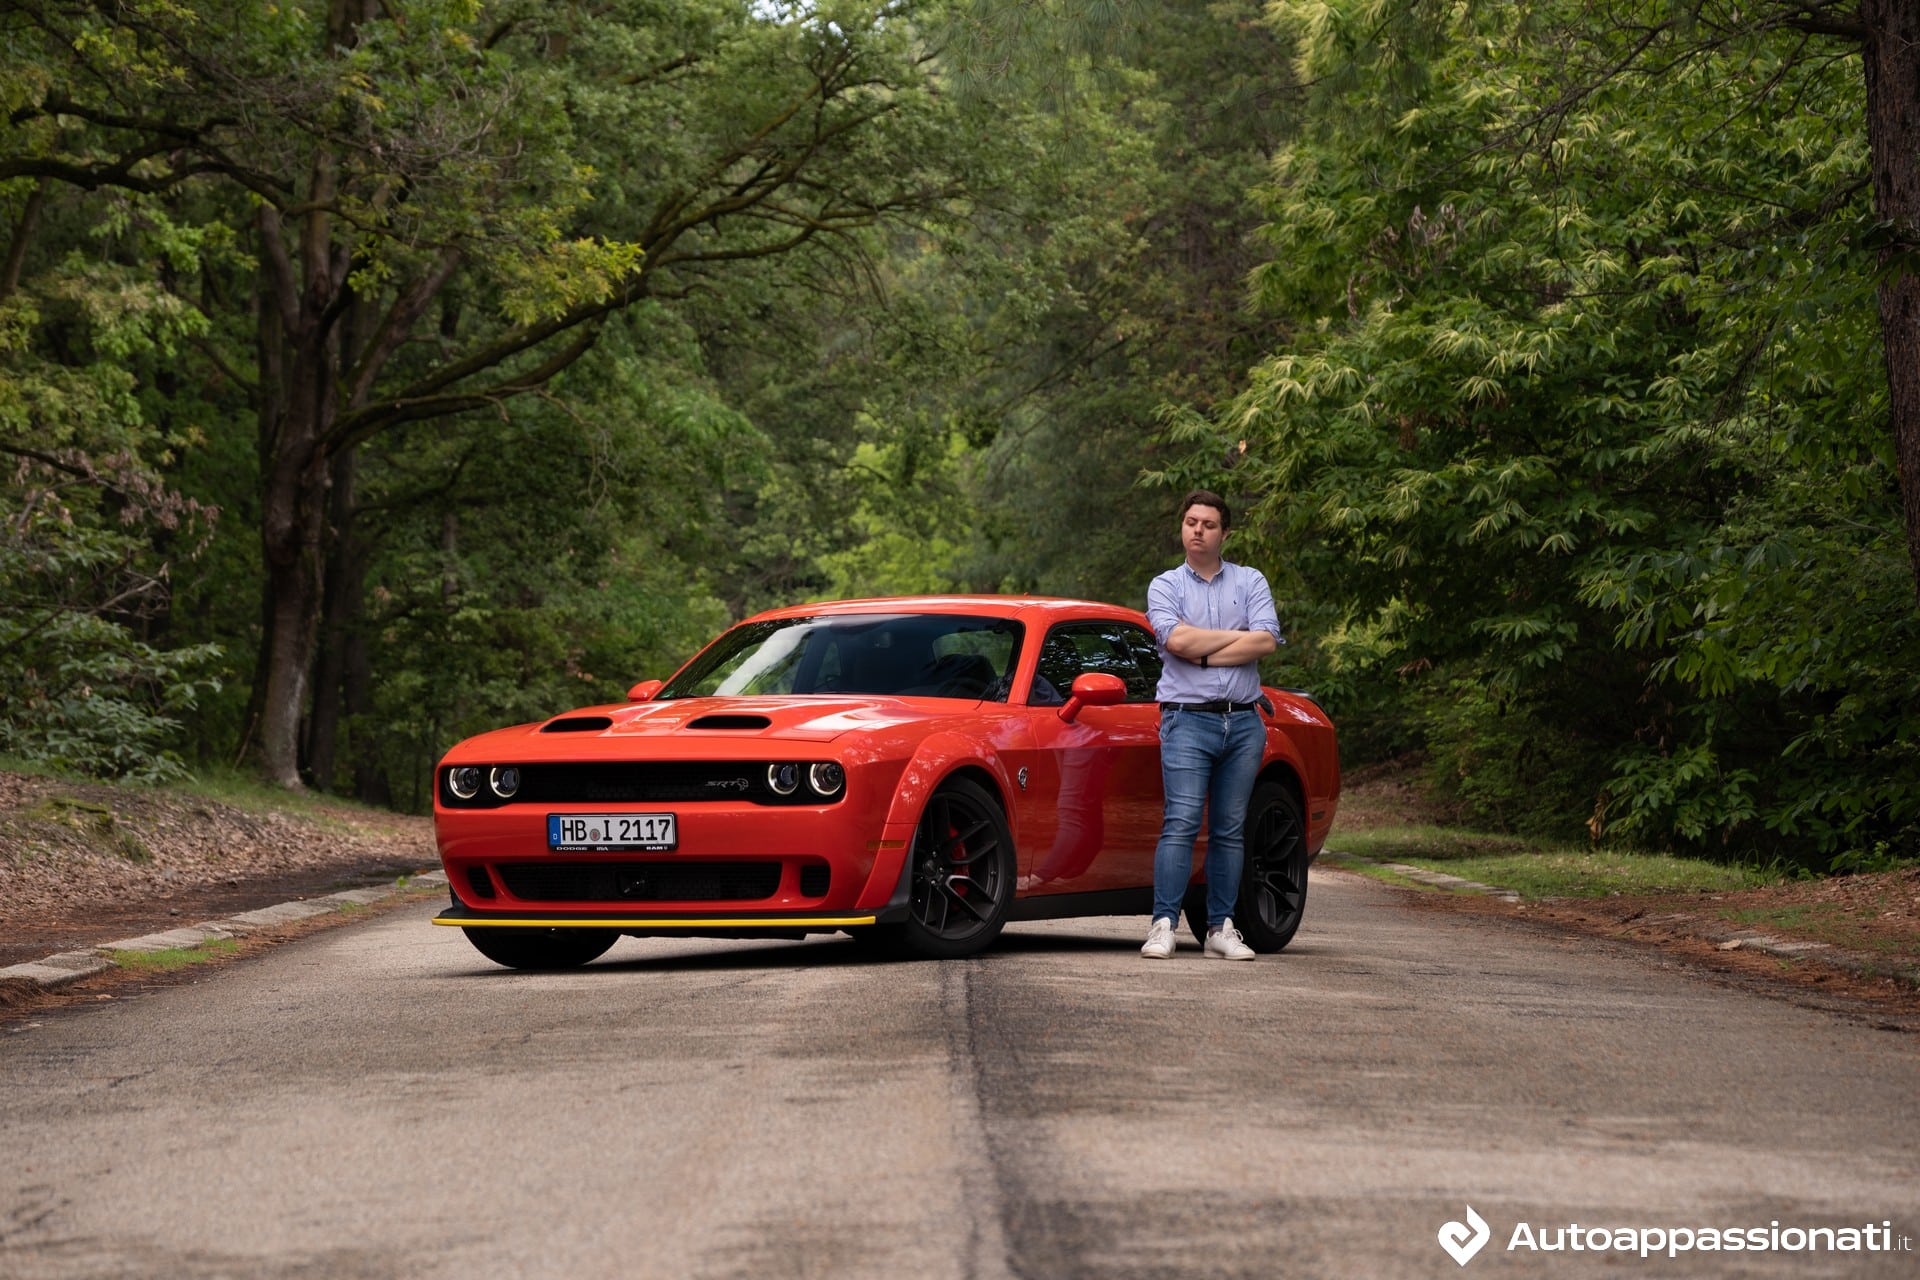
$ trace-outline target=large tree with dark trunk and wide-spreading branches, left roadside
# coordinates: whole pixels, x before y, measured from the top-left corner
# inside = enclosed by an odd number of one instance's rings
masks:
[[[897,6],[21,4],[0,178],[204,200],[257,420],[255,741],[298,785],[330,487],[405,424],[499,413],[643,297],[937,207],[943,107]]]

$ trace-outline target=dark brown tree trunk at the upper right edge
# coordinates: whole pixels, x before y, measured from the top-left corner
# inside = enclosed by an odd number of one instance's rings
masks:
[[[1887,353],[1887,415],[1899,459],[1907,557],[1920,604],[1920,4],[1862,0],[1866,27],[1866,146],[1872,157],[1874,213],[1893,225],[1882,253],[1891,267],[1880,282],[1880,334]],[[1903,259],[1903,261],[1895,261]]]

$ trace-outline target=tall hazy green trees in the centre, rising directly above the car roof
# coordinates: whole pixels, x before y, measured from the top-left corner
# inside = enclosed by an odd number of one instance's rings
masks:
[[[935,376],[876,416],[924,439],[895,457],[939,486],[889,472],[868,499],[899,495],[893,528],[941,510],[922,560],[954,585],[1144,603],[1144,566],[1173,553],[1175,495],[1140,489],[1169,462],[1160,407],[1227,397],[1269,326],[1244,307],[1246,192],[1298,96],[1260,13],[962,10],[985,35],[954,58],[987,63],[973,92],[998,104],[1000,171],[964,232],[893,259],[904,359]]]

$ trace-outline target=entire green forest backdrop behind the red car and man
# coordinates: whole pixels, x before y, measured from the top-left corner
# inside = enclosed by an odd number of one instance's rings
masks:
[[[1912,860],[1912,8],[13,0],[0,752],[420,810],[1204,484],[1350,770]]]

